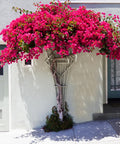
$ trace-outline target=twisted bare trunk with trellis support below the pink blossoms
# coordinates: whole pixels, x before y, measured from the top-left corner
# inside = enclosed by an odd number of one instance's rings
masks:
[[[47,50],[47,63],[50,66],[50,70],[53,75],[54,84],[56,86],[56,99],[57,99],[57,111],[59,114],[59,118],[61,121],[63,121],[63,115],[64,115],[64,97],[63,97],[63,81],[61,81],[61,76],[64,75],[64,73],[70,68],[71,64],[75,60],[75,56],[73,54],[70,54],[69,56],[64,56],[64,58],[69,59],[69,63],[65,65],[64,71],[62,73],[59,73],[57,69],[57,60],[59,60],[61,57],[56,54],[56,52],[52,51],[51,49]]]

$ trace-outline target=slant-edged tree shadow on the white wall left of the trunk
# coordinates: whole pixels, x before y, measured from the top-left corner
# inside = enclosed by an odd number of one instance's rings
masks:
[[[45,124],[46,116],[56,105],[54,83],[45,58],[43,54],[38,60],[33,60],[33,66],[24,66],[23,62],[17,64],[20,95],[32,128]]]

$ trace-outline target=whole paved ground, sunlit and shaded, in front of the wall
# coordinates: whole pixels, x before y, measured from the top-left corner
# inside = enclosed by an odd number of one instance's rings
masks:
[[[120,119],[76,124],[72,129],[0,132],[0,144],[120,144]]]

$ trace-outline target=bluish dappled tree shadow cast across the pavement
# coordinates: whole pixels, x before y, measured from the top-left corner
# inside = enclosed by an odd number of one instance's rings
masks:
[[[104,137],[118,137],[112,126],[107,121],[92,121],[81,124],[75,124],[72,129],[60,132],[44,132],[43,129],[34,129],[21,138],[32,137],[31,144],[37,144],[40,141],[91,141],[100,140]]]

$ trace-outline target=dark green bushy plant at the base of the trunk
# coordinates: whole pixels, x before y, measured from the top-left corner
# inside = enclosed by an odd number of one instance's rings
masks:
[[[43,127],[45,132],[65,130],[73,127],[73,119],[68,114],[68,106],[65,103],[63,121],[59,119],[56,106],[52,107],[52,114],[46,117],[46,125]]]

